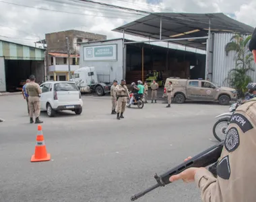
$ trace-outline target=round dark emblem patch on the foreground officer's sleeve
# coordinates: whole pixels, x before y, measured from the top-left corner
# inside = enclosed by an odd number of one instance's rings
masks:
[[[235,127],[232,127],[228,130],[228,133],[226,133],[224,146],[228,152],[231,152],[236,150],[239,144],[240,144],[240,138],[239,138],[238,131]]]

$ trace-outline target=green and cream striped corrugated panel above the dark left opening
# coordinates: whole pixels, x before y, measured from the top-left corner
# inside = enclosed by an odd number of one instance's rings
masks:
[[[0,40],[0,57],[9,60],[44,60],[44,49]]]

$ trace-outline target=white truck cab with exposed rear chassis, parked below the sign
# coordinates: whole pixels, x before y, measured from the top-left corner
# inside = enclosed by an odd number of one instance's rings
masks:
[[[81,67],[74,71],[73,78],[80,92],[96,92],[98,96],[104,96],[110,92],[113,83],[98,83],[98,76],[94,67]]]

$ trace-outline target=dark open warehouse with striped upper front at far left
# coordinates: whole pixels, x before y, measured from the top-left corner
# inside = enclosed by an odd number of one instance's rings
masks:
[[[0,40],[0,92],[21,90],[31,74],[44,81],[44,49]]]

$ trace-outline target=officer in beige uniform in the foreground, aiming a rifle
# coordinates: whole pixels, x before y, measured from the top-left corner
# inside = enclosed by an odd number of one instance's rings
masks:
[[[256,51],[256,30],[249,48]],[[256,54],[254,54],[256,62]],[[256,83],[247,86],[256,94]],[[201,189],[204,202],[253,202],[256,200],[256,98],[236,108],[228,125],[224,147],[217,166],[217,177],[206,168],[188,168],[170,177],[193,182]]]

